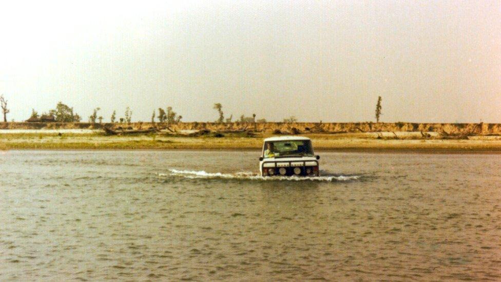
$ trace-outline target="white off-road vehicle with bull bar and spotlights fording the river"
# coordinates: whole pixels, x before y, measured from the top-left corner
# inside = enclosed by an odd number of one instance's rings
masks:
[[[262,176],[318,176],[319,159],[310,138],[271,137],[264,139],[259,171]]]

